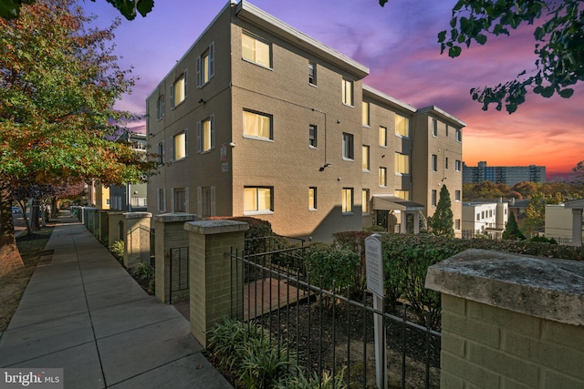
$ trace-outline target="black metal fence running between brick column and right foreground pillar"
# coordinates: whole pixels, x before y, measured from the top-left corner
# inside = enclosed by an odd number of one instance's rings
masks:
[[[355,298],[349,289],[326,291],[305,271],[307,247],[255,252],[231,252],[237,273],[233,293],[243,302],[232,316],[266,328],[278,345],[297,355],[307,370],[337,374],[344,371],[348,387],[375,387],[374,317],[381,316],[387,334],[386,374],[390,387],[437,388],[440,384],[441,333],[426,323],[414,322],[408,305],[384,304],[372,308],[372,296]],[[250,326],[252,328],[254,326]]]

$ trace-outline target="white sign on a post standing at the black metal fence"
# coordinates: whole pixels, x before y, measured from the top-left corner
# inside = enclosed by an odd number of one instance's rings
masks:
[[[373,293],[373,309],[383,312],[383,253],[381,235],[373,234],[365,238],[365,276],[367,289]],[[385,353],[385,328],[381,314],[373,313],[375,330],[375,377],[377,387],[387,388],[387,353]]]

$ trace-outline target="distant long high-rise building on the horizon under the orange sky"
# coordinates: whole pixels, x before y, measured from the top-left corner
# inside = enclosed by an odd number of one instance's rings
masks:
[[[545,166],[486,166],[480,161],[477,167],[463,163],[463,184],[478,184],[483,181],[506,184],[510,187],[519,182],[546,182]]]

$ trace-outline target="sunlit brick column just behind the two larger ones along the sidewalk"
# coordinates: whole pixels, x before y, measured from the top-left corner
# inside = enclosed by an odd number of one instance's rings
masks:
[[[150,263],[150,212],[126,212],[124,266],[132,268],[140,262]]]

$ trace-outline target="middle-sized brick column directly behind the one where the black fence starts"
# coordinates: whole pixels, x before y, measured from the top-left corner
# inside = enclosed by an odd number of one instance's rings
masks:
[[[197,219],[197,215],[190,213],[164,213],[154,216],[155,253],[156,258],[156,297],[161,302],[169,303],[189,298],[189,289],[176,291],[182,280],[178,280],[178,271],[172,269],[171,277],[171,252],[189,247],[189,231],[184,230],[184,223]],[[188,252],[188,250],[185,250]],[[184,266],[188,269],[188,256],[184,253]],[[188,274],[188,271],[185,272]],[[190,280],[185,280],[186,284]]]

